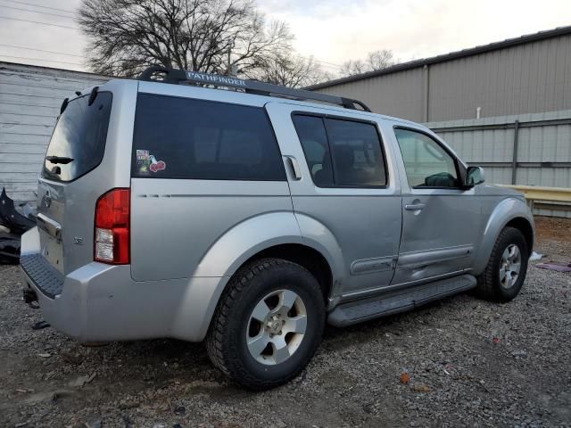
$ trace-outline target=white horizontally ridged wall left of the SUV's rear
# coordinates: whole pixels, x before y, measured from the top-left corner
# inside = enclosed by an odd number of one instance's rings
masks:
[[[0,189],[16,201],[34,201],[55,119],[66,96],[103,83],[77,71],[0,62]]]

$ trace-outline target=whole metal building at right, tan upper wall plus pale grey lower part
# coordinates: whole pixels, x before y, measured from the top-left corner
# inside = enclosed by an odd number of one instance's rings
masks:
[[[424,123],[489,183],[571,187],[571,26],[309,89]],[[571,217],[569,205],[536,206]]]

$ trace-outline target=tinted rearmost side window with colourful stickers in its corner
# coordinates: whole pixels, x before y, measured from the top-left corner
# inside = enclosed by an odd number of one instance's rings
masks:
[[[285,180],[263,109],[139,94],[133,177]]]

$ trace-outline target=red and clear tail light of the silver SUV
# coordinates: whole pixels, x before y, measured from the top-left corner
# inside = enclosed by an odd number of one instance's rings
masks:
[[[112,189],[95,204],[95,261],[129,262],[130,190]]]

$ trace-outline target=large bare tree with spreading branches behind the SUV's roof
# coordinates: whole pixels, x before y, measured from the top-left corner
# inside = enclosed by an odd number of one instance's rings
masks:
[[[293,39],[252,0],[83,0],[79,25],[92,70],[135,76],[149,65],[226,73],[259,70]]]

